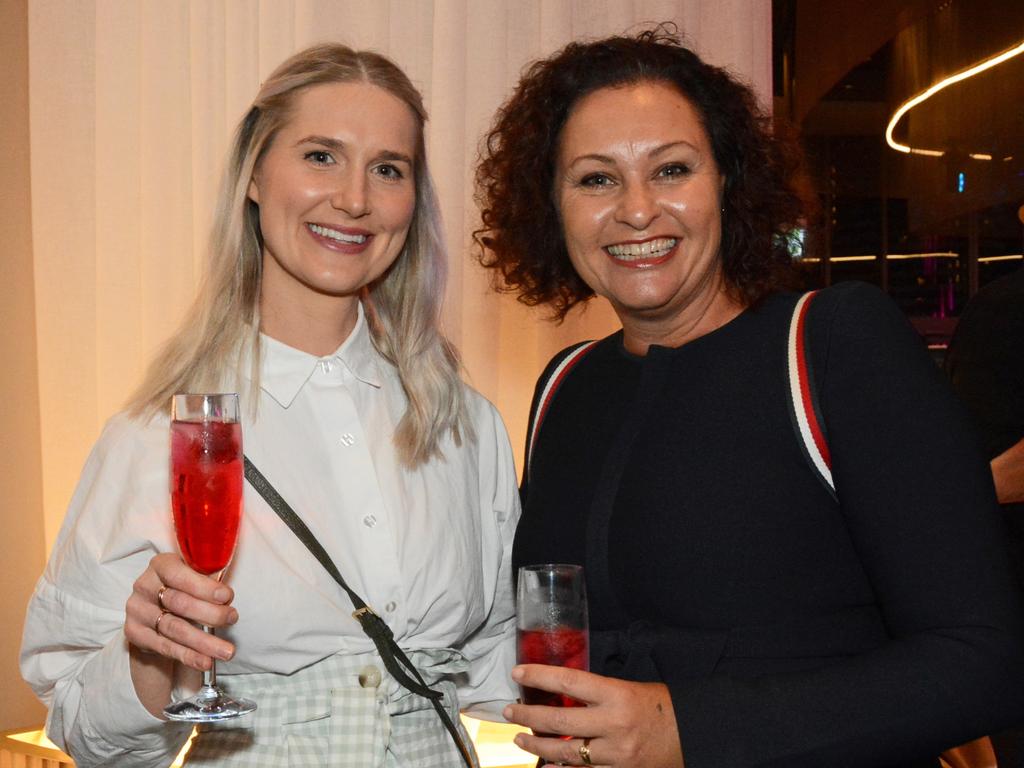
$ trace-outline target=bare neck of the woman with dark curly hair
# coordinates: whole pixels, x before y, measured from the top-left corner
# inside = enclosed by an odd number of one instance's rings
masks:
[[[652,345],[681,347],[716,331],[733,319],[744,306],[730,296],[722,283],[714,291],[696,297],[684,310],[669,317],[656,313],[626,316],[623,323],[623,346],[633,354],[647,354]]]

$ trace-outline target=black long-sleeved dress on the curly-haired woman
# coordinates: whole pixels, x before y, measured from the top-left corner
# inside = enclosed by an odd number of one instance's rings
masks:
[[[592,671],[668,684],[687,768],[934,767],[1024,718],[991,477],[896,307],[844,284],[808,315],[837,503],[788,411],[796,300],[593,347],[537,435],[514,561],[585,566]]]

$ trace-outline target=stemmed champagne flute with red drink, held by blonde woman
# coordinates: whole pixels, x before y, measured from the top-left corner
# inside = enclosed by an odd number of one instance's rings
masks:
[[[234,553],[242,517],[242,425],[237,394],[176,394],[171,399],[171,508],[181,557],[220,580]],[[213,634],[213,629],[203,627]],[[164,708],[171,720],[206,723],[256,709],[217,687],[216,659],[191,698]]]

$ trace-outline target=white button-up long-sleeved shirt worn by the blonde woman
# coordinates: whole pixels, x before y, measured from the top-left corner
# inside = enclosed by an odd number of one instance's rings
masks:
[[[262,337],[255,419],[243,401],[246,455],[305,521],[348,585],[407,650],[455,648],[464,708],[500,711],[516,693],[512,536],[519,514],[501,418],[467,388],[472,439],[414,470],[392,437],[406,410],[397,372],[374,348],[361,309],[333,355]],[[50,715],[51,738],[83,764],[153,765],[181,731],[152,717],[131,683],[123,634],[132,583],[177,551],[168,498],[168,420],[114,417],[72,499],[26,622],[22,671]],[[239,621],[218,673],[287,674],[373,643],[347,595],[247,483],[225,580]],[[165,763],[166,764],[166,763]]]

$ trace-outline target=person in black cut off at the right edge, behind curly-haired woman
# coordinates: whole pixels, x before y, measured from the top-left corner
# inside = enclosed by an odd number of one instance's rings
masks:
[[[971,300],[945,369],[992,462],[1014,568],[1024,585],[1024,267]],[[996,734],[992,742],[999,768],[1024,766],[1024,727]]]

